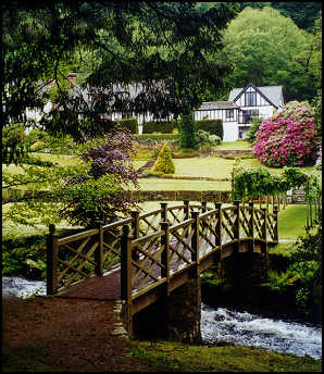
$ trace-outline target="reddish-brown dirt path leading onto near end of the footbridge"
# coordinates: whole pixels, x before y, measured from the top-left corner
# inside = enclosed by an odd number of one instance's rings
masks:
[[[2,300],[3,372],[157,371],[111,333],[113,301],[37,297]]]

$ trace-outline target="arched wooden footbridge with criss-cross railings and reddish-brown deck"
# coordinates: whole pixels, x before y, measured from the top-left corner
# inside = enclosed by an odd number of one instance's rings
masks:
[[[126,321],[235,252],[266,255],[277,242],[277,210],[252,202],[161,203],[114,223],[59,238],[50,225],[47,294],[125,300]],[[128,326],[132,325],[129,322]]]

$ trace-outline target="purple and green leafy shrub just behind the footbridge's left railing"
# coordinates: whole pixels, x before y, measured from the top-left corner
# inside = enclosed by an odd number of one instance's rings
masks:
[[[80,154],[84,170],[75,167],[53,188],[53,196],[63,203],[61,217],[90,226],[98,220],[108,223],[129,214],[135,202],[126,187],[137,186],[137,173],[129,162],[134,153],[127,129],[112,132],[103,145],[85,150]]]

